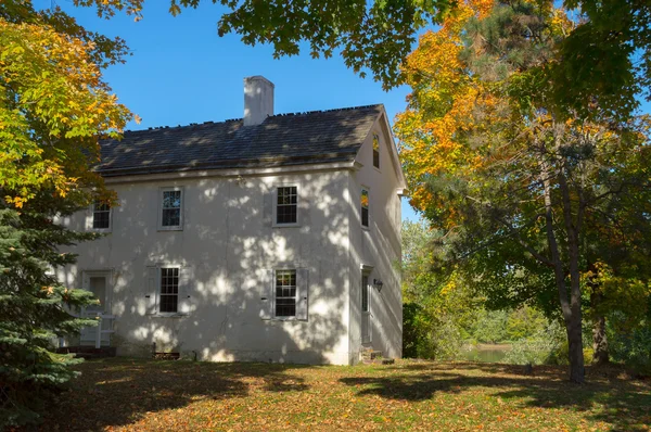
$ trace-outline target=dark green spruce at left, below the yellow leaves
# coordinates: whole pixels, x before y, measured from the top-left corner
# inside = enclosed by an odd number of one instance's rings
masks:
[[[52,269],[73,264],[60,245],[95,238],[55,224],[79,209],[51,193],[38,194],[22,213],[0,204],[0,427],[34,422],[49,392],[75,376],[72,355],[55,354],[53,340],[94,320],[69,314],[97,300],[58,281]]]

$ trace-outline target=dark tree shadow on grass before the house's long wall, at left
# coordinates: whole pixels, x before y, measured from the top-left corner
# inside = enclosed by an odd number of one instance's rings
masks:
[[[41,431],[104,430],[131,424],[149,412],[178,409],[192,402],[246,397],[259,389],[299,392],[304,379],[290,373],[303,365],[192,363],[112,358],[88,361],[82,377],[58,397]]]

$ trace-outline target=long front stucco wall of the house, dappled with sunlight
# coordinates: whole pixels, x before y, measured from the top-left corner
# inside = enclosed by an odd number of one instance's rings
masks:
[[[272,227],[279,183],[299,186],[299,227]],[[194,351],[209,360],[350,361],[347,170],[110,187],[120,204],[113,208],[112,232],[75,247],[77,265],[60,277],[79,287],[84,270],[113,270],[118,353],[148,353],[156,342],[161,351]],[[182,231],[157,229],[161,187],[183,188]],[[85,229],[87,217],[66,224]],[[186,316],[148,315],[146,268],[156,264],[181,267]],[[261,270],[278,267],[308,269],[307,321],[260,319]]]

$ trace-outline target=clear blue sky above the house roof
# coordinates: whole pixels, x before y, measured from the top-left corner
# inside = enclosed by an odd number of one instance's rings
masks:
[[[51,0],[36,0],[49,8]],[[268,46],[250,47],[237,35],[217,36],[221,7],[209,3],[183,9],[173,17],[168,0],[145,2],[144,18],[117,14],[111,20],[93,9],[56,0],[86,28],[125,39],[133,55],[111,66],[104,79],[133,113],[142,118],[130,129],[176,126],[242,117],[245,76],[264,75],[276,85],[276,113],[329,110],[383,103],[390,119],[406,106],[408,87],[388,92],[372,78],[362,79],[339,55],[314,60],[306,49],[298,56],[272,58]],[[649,103],[642,111],[651,112]],[[418,216],[403,200],[403,218]]]

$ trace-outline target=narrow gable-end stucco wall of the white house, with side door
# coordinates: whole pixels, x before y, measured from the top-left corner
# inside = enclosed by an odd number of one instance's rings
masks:
[[[373,134],[380,139],[380,168],[373,166]],[[349,179],[353,212],[350,214],[350,352],[361,347],[361,269],[372,267],[369,282],[380,279],[382,291],[371,289],[371,346],[385,356],[403,355],[403,296],[400,291],[400,196],[398,177],[392,164],[387,124],[382,116],[361,147],[356,161],[361,168]],[[369,227],[361,227],[361,189],[369,191]]]

